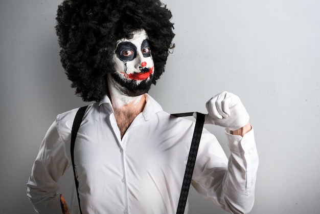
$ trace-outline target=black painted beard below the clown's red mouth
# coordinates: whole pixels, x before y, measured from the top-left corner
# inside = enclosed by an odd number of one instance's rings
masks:
[[[112,73],[111,78],[113,79],[111,81],[114,81],[119,91],[130,97],[135,97],[145,94],[150,90],[153,74],[144,80],[123,79],[119,76],[119,73]],[[138,81],[140,81],[139,84],[137,84]]]

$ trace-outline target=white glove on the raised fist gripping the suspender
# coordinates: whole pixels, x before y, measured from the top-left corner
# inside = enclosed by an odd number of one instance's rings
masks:
[[[245,126],[249,121],[249,115],[240,98],[230,92],[222,92],[205,103],[208,113],[205,115],[207,124],[227,127],[235,131]]]

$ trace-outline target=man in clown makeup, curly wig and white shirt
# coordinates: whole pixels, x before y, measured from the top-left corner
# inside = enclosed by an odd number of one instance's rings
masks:
[[[159,1],[73,1],[58,9],[61,61],[76,93],[90,104],[74,148],[79,199],[71,213],[175,213],[194,122],[164,112],[147,94],[164,71],[174,36]],[[258,156],[239,97],[222,92],[207,102],[207,123],[226,127],[228,159],[203,130],[193,187],[232,213],[254,203]],[[77,109],[60,114],[41,144],[28,182],[40,213],[62,213],[58,179],[71,166]],[[186,212],[188,212],[188,207]]]

